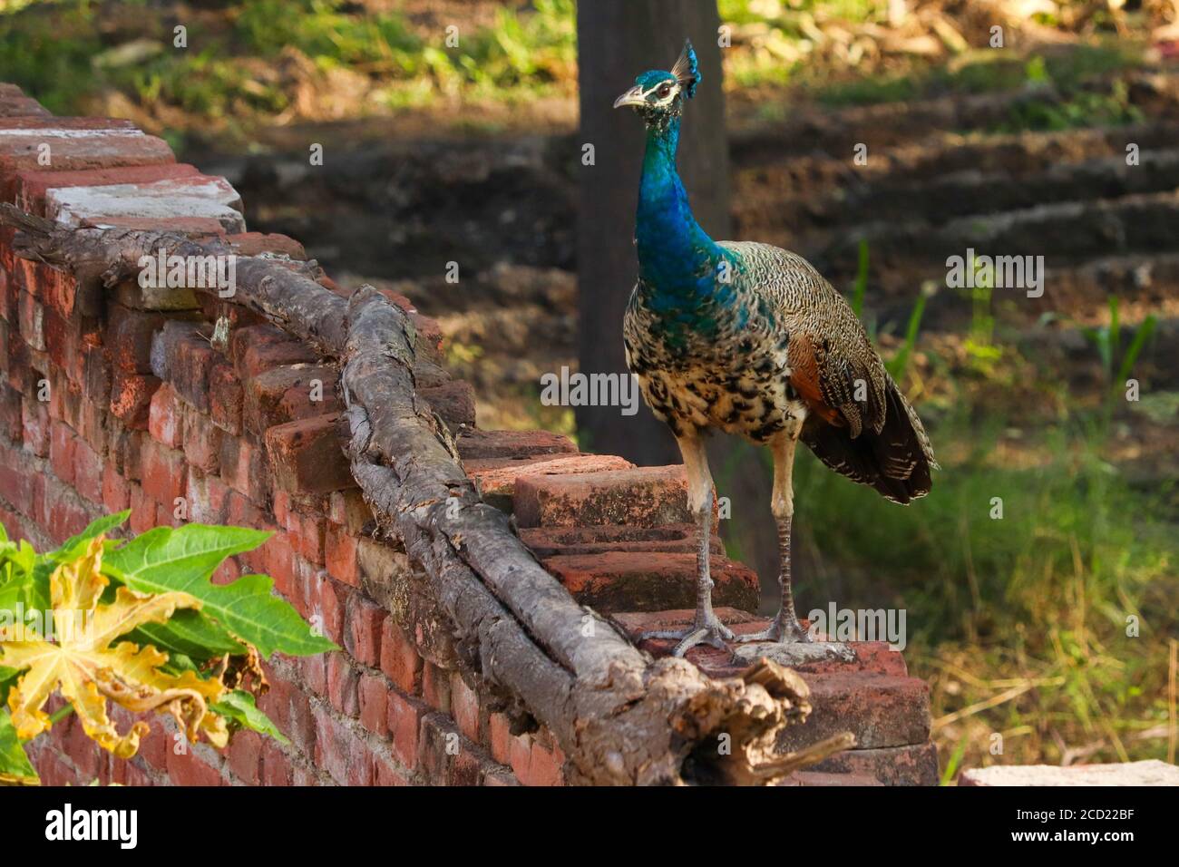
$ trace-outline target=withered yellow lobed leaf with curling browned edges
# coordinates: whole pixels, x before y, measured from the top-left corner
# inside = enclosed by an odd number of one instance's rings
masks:
[[[103,538],[90,543],[86,554],[66,563],[50,577],[53,635],[26,630],[24,641],[0,643],[0,666],[25,671],[8,692],[17,736],[35,737],[52,724],[44,711],[54,691],[73,705],[86,734],[117,756],[129,758],[147,734],[144,722],[120,735],[106,715],[107,699],[134,712],[171,714],[196,742],[200,733],[224,747],[229,738],[225,720],[209,714],[209,704],[225,692],[218,678],[202,679],[192,671],[179,676],[159,670],[167,653],[131,642],[112,645],[116,638],[145,623],[165,623],[177,609],[199,609],[187,593],[141,595],[127,587],[116,591],[110,604],[101,602],[107,579],[101,574]]]

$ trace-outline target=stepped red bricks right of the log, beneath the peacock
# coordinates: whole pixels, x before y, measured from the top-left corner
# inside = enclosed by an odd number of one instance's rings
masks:
[[[502,453],[490,444],[503,438]],[[683,467],[633,467],[610,455],[579,454],[542,432],[460,438],[460,455],[483,495],[512,512],[520,538],[579,600],[608,612],[632,638],[686,626],[696,600],[697,530],[687,510]],[[716,526],[716,523],[713,524]],[[724,556],[712,536],[713,598],[738,633],[765,629],[756,616],[757,576]],[[647,641],[656,656],[673,642]],[[814,710],[786,729],[778,747],[797,750],[851,731],[856,749],[788,783],[934,784],[937,754],[929,743],[929,691],[909,677],[901,653],[881,642],[851,642],[850,658],[796,666],[811,688]],[[752,662],[694,648],[689,659],[713,677]]]

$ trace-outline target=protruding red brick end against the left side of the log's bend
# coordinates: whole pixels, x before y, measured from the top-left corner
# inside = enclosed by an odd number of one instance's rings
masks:
[[[275,484],[291,493],[323,494],[355,487],[341,448],[338,416],[317,415],[266,431]]]

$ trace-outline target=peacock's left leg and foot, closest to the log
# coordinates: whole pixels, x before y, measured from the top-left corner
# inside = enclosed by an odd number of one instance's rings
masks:
[[[659,630],[644,632],[639,641],[647,638],[674,638],[679,642],[672,651],[684,656],[697,644],[711,644],[727,650],[726,641],[732,641],[732,631],[712,611],[712,576],[709,566],[709,546],[712,538],[712,473],[704,451],[704,440],[696,433],[678,436],[679,451],[684,455],[687,471],[687,498],[692,517],[699,531],[696,550],[696,617],[685,630]]]

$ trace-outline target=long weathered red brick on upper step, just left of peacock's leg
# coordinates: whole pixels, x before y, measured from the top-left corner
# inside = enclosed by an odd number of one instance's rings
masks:
[[[515,486],[522,527],[690,524],[684,467],[640,467],[523,478]]]

